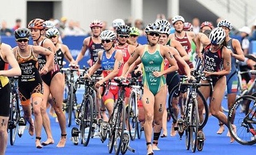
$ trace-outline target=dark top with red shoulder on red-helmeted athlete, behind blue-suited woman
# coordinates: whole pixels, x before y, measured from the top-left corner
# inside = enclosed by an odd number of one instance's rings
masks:
[[[90,59],[92,60],[92,63],[94,64],[98,61],[98,51],[104,50],[104,48],[101,43],[100,44],[94,43],[92,40],[92,37],[90,37],[88,50],[90,51]]]

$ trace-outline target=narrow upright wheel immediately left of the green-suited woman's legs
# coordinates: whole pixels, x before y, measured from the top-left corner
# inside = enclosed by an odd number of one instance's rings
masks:
[[[128,106],[128,128],[131,140],[135,140],[138,130],[138,119],[137,119],[137,98],[134,92],[131,92]]]

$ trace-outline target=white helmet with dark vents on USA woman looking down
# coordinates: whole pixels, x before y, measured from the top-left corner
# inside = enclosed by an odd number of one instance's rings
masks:
[[[209,38],[213,45],[221,45],[225,40],[226,33],[223,28],[217,27],[210,32]]]

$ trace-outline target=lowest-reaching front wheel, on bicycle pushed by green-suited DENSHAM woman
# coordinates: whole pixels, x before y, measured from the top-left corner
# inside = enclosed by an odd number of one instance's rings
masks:
[[[121,101],[121,103],[119,103],[117,130],[115,130],[115,134],[116,134],[116,136],[115,136],[115,154],[119,154],[119,152],[121,150],[122,140],[123,140],[123,132],[125,131],[126,109],[125,109],[124,105],[125,105],[125,103],[123,101]]]

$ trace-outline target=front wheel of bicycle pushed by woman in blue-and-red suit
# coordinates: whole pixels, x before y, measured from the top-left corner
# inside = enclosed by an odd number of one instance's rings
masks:
[[[81,117],[81,136],[82,136],[82,144],[84,147],[87,147],[90,136],[92,134],[92,124],[93,124],[93,99],[92,96],[88,95],[86,97],[84,105],[84,115]]]

